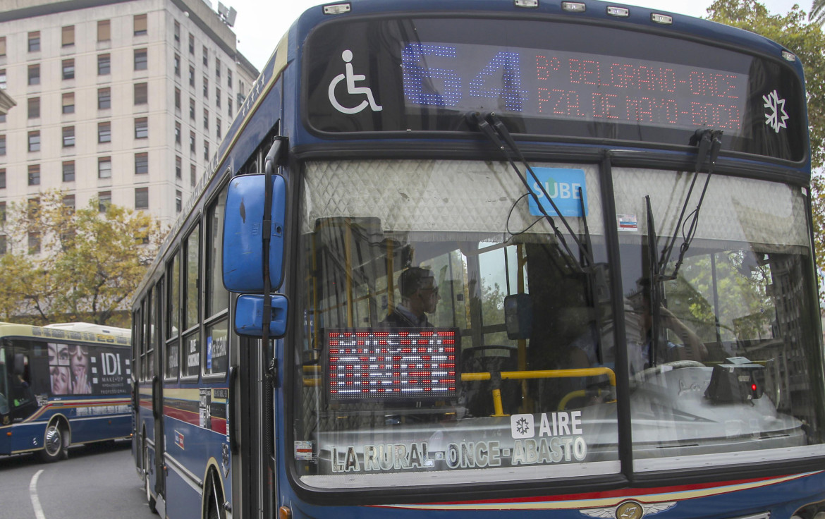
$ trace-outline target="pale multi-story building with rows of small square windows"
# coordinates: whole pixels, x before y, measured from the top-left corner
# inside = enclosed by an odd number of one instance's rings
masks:
[[[203,0],[0,0],[0,210],[62,189],[171,224],[257,78],[236,41]]]

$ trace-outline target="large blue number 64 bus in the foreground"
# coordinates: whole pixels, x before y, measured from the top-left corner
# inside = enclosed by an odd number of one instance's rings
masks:
[[[802,66],[587,0],[299,17],[133,304],[162,517],[821,519]]]

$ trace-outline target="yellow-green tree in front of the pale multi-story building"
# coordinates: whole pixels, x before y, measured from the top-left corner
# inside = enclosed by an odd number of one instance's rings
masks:
[[[32,323],[128,323],[128,303],[158,252],[152,216],[98,201],[75,210],[64,192],[13,203],[0,258],[0,318]],[[38,252],[39,250],[39,252]]]

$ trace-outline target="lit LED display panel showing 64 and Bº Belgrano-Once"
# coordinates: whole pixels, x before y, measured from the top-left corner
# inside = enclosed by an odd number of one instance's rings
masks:
[[[408,43],[407,106],[740,134],[748,76],[560,50]]]

